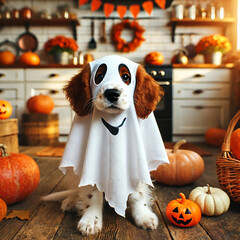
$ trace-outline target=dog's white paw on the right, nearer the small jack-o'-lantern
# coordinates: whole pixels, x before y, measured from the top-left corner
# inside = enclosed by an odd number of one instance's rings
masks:
[[[136,225],[143,229],[153,230],[158,226],[157,216],[147,207],[138,211],[133,218]]]

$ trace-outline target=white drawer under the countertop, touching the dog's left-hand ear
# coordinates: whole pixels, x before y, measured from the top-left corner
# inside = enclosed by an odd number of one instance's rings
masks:
[[[80,69],[77,68],[43,68],[43,69],[26,69],[27,81],[65,81],[70,80]]]

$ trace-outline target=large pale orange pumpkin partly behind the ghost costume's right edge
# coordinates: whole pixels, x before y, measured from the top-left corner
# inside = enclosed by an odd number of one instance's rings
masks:
[[[177,142],[173,150],[166,149],[170,164],[160,165],[151,172],[151,177],[171,186],[182,186],[194,182],[204,171],[204,161],[196,152],[179,149],[186,140]]]

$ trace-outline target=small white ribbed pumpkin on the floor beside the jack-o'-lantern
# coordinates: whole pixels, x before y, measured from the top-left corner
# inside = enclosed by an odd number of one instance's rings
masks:
[[[196,187],[189,195],[189,199],[198,204],[202,214],[217,216],[226,212],[230,205],[228,195],[220,188]]]

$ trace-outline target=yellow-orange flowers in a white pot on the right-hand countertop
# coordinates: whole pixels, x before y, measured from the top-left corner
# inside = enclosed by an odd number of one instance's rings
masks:
[[[220,34],[209,35],[200,39],[196,45],[196,52],[204,56],[205,63],[221,64],[222,55],[232,49],[228,39]]]

